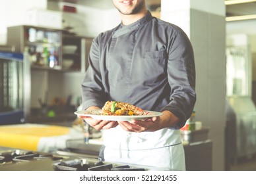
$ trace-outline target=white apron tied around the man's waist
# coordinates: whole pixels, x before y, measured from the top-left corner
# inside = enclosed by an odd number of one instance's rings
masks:
[[[120,126],[102,131],[104,160],[156,170],[185,170],[185,154],[178,129],[131,133]]]

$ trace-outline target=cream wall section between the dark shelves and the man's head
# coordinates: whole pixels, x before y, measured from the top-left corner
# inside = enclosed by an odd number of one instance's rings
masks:
[[[63,28],[72,27],[71,32],[87,37],[95,37],[100,32],[109,30],[120,22],[117,11],[113,9],[98,9],[96,7],[86,7],[73,3],[59,1],[48,1],[48,9],[62,11],[63,6],[75,7],[77,12],[63,13]]]

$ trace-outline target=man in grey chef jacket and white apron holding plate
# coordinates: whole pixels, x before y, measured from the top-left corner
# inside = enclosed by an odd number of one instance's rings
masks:
[[[162,116],[129,122],[81,118],[102,130],[104,160],[185,170],[179,128],[196,101],[191,43],[180,28],[154,18],[144,0],[113,0],[113,5],[121,24],[92,43],[82,82],[83,108],[120,101]]]

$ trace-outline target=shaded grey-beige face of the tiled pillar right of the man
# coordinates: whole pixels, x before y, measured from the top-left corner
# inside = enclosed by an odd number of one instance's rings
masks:
[[[194,21],[196,24],[194,24]],[[224,126],[226,97],[226,57],[224,17],[207,12],[191,11],[192,43],[197,69],[197,118],[210,132],[220,130],[218,136],[210,134],[213,142],[213,170],[224,170]],[[204,33],[205,32],[205,33]],[[205,54],[203,54],[205,53]],[[218,140],[217,140],[218,139]],[[220,143],[219,143],[220,142]]]

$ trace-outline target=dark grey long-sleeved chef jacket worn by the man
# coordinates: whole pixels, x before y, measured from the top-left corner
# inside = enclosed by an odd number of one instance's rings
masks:
[[[82,81],[83,108],[106,101],[170,110],[182,127],[196,101],[193,48],[179,27],[153,17],[99,34]]]

